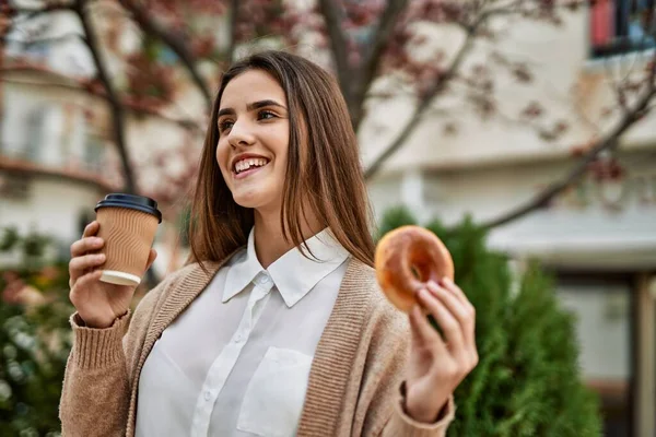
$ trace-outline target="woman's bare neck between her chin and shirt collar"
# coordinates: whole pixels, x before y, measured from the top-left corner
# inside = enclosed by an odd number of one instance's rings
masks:
[[[303,239],[311,238],[323,229],[314,214],[307,214],[307,222],[301,223]],[[280,212],[263,214],[255,211],[255,252],[260,264],[267,269],[277,259],[294,248],[292,240],[282,236]],[[290,237],[288,235],[288,237]]]

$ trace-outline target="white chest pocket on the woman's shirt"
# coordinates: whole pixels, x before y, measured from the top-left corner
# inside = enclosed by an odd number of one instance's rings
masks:
[[[261,437],[291,437],[305,402],[313,357],[269,347],[248,382],[237,429]]]

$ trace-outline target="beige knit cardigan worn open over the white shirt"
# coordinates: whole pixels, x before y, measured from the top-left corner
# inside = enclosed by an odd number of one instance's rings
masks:
[[[222,263],[189,264],[168,275],[107,329],[73,315],[73,349],[60,403],[66,437],[134,435],[143,364],[164,329],[206,288]],[[126,334],[127,329],[127,334]],[[315,353],[297,436],[442,437],[454,417],[449,399],[435,424],[401,408],[410,331],[407,316],[379,292],[375,272],[352,258]]]

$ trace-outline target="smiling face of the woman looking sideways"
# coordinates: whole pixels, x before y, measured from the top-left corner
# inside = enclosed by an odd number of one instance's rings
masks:
[[[216,162],[244,208],[280,211],[290,120],[284,91],[261,70],[229,82],[219,102]]]

